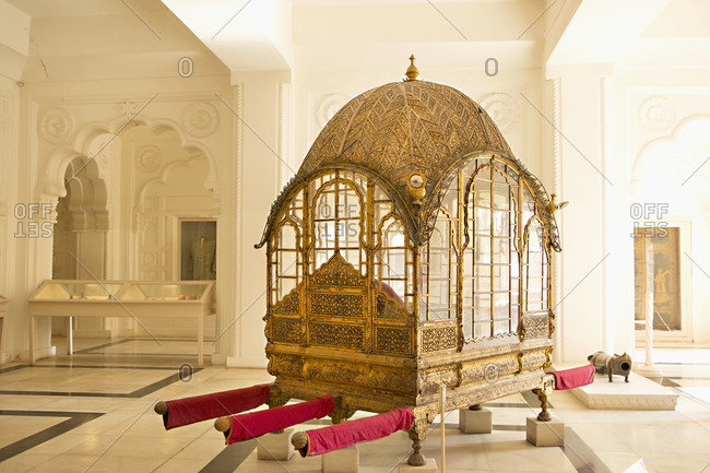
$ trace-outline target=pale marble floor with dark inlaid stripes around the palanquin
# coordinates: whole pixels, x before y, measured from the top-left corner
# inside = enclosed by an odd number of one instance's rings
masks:
[[[61,353],[64,342],[56,343]],[[258,461],[259,439],[225,447],[211,421],[166,431],[153,412],[158,400],[270,382],[264,370],[209,362],[191,370],[194,342],[162,341],[159,351],[141,340],[74,344],[72,356],[0,366],[0,472],[320,471],[318,458]],[[458,413],[446,415],[447,471],[710,473],[710,350],[658,355],[658,381],[681,394],[676,411],[590,411],[557,391],[552,411],[566,424],[566,444],[537,448],[524,431],[525,418],[540,410],[536,398],[498,399],[487,403],[492,434],[463,435]],[[437,461],[440,435],[431,429],[423,449]],[[398,433],[358,447],[360,472],[392,473],[411,442]]]

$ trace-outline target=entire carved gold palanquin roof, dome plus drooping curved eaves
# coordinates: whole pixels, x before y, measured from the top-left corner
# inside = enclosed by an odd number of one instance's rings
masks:
[[[405,80],[371,88],[333,116],[313,142],[298,173],[273,203],[261,241],[269,239],[282,205],[310,176],[350,169],[381,186],[402,217],[412,241],[425,245],[451,180],[477,156],[498,155],[514,163],[541,203],[551,246],[560,251],[549,198],[540,180],[510,151],[488,114],[463,93],[434,82]],[[419,203],[410,194],[412,173],[425,178]]]

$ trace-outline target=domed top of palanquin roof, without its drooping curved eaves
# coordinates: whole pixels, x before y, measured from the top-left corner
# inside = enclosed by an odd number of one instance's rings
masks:
[[[419,172],[430,199],[452,164],[482,151],[512,154],[478,104],[434,82],[393,82],[341,108],[313,142],[298,174],[332,165],[366,167],[406,198],[406,178]]]

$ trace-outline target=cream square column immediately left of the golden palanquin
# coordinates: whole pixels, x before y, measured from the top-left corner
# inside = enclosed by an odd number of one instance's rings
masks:
[[[264,249],[255,249],[276,199],[280,186],[279,155],[280,104],[282,84],[289,80],[287,71],[233,73],[233,83],[242,87],[241,110],[228,111],[236,127],[241,127],[238,159],[236,213],[237,213],[237,299],[235,310],[223,315],[221,326],[226,330],[222,353],[227,366],[264,367],[264,322],[267,309],[267,264]],[[237,116],[238,115],[238,116]],[[283,130],[283,128],[282,128]],[[227,328],[228,327],[228,328]]]

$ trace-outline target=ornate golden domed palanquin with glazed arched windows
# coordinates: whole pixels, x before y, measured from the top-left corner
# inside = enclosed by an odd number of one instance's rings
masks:
[[[340,397],[333,418],[446,409],[543,387],[551,251],[541,182],[486,111],[414,78],[328,122],[263,238],[270,403]]]

